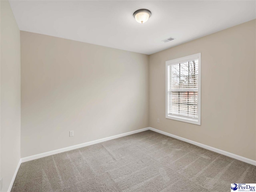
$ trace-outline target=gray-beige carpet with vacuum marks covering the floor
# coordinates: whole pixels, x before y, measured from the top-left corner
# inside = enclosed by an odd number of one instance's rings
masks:
[[[24,162],[12,192],[230,192],[256,166],[144,131]]]

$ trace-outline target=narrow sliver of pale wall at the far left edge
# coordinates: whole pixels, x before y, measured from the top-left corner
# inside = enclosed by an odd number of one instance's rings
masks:
[[[8,1],[1,4],[1,177],[7,191],[20,160],[20,30]]]

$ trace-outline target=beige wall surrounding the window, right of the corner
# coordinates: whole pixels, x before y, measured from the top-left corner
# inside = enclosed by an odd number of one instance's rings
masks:
[[[252,20],[150,55],[150,127],[256,160],[255,28]],[[165,61],[195,53],[201,126],[165,118]]]

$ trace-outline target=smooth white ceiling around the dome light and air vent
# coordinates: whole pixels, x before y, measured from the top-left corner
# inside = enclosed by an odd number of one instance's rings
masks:
[[[255,1],[13,1],[20,30],[152,54],[256,18]],[[139,24],[134,11],[152,12]],[[173,37],[175,40],[163,43]],[[241,38],[241,37],[240,37]]]

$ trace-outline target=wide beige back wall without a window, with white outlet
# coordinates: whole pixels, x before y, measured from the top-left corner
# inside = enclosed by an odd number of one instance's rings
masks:
[[[148,127],[148,55],[20,34],[22,157]]]

